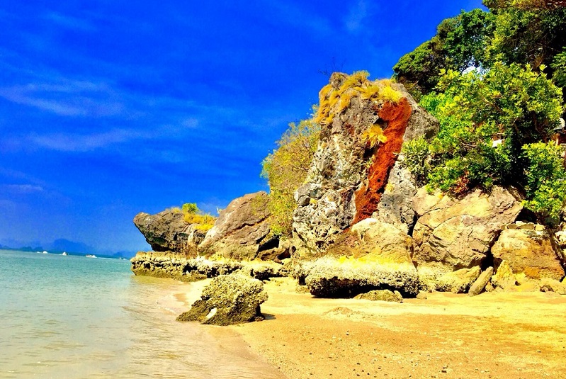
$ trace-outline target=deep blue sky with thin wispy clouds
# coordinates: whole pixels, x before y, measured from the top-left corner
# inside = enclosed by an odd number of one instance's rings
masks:
[[[267,189],[321,72],[390,77],[481,1],[2,1],[0,244],[149,249],[140,211]]]

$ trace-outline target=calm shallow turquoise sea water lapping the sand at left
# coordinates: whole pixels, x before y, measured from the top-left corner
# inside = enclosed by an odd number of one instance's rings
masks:
[[[0,378],[282,378],[232,331],[175,322],[190,290],[129,261],[0,250]]]

